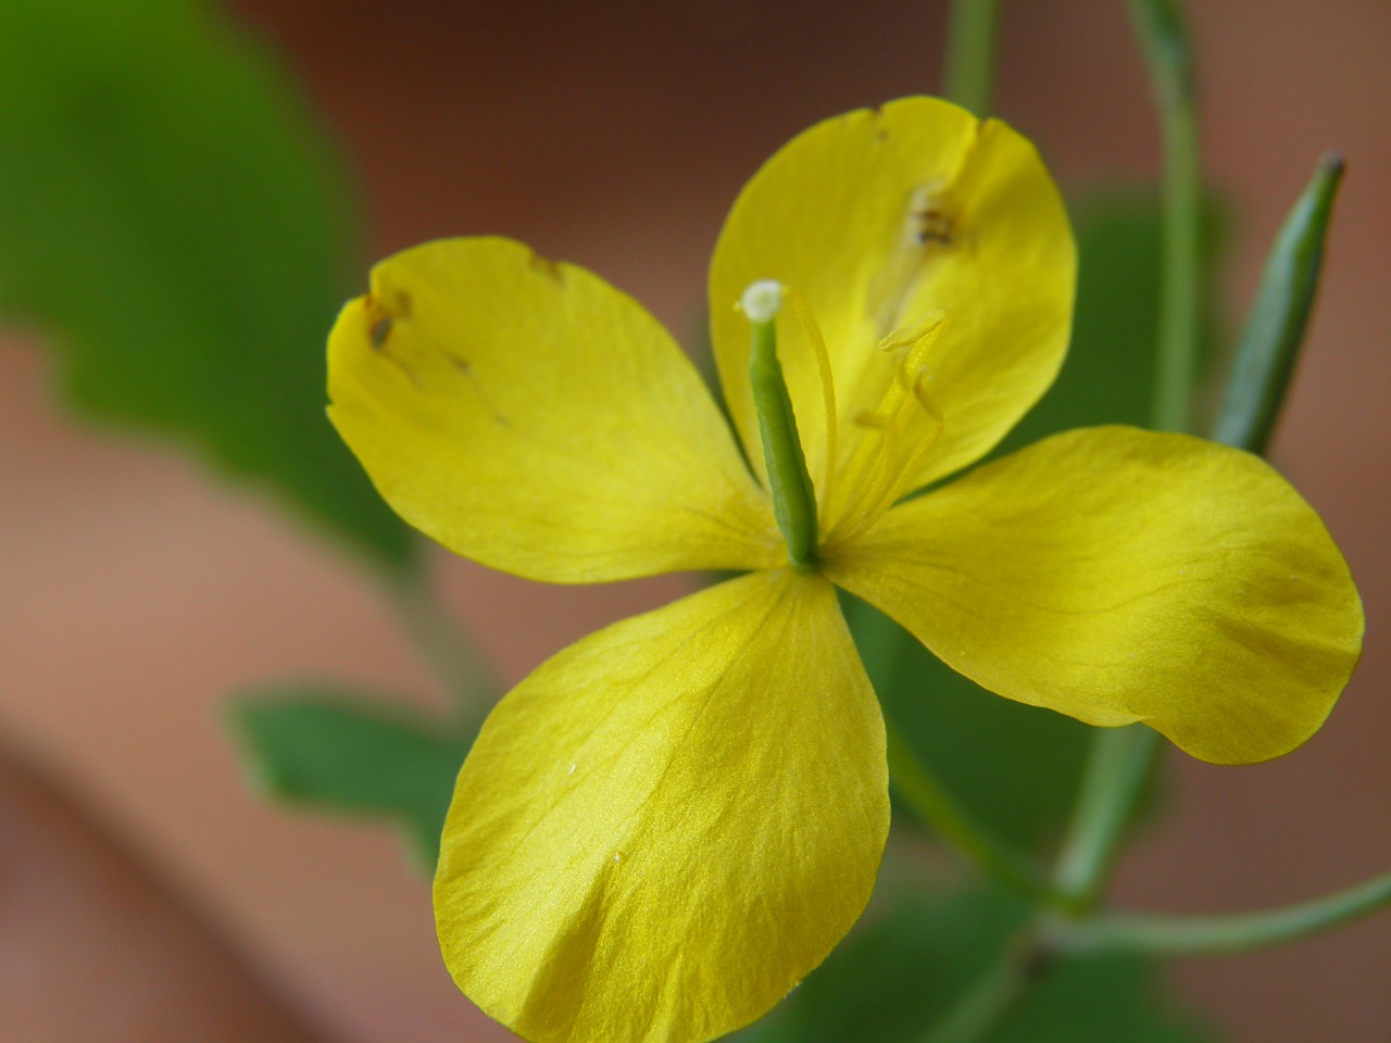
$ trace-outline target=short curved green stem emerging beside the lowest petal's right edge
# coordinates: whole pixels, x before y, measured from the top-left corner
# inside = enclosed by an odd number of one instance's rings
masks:
[[[1010,890],[1032,901],[1059,904],[1047,878],[1034,859],[975,822],[950,797],[936,775],[914,755],[887,718],[885,731],[889,740],[889,779],[899,797],[924,823]]]

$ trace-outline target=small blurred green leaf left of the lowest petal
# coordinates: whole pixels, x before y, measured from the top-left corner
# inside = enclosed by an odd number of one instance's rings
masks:
[[[434,872],[472,736],[445,734],[389,702],[307,686],[235,700],[231,720],[252,777],[271,797],[391,819]]]

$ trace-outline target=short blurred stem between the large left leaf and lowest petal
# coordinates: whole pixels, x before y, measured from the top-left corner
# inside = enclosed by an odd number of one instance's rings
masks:
[[[485,702],[483,697],[498,691],[498,683],[465,629],[440,604],[427,558],[420,553],[415,566],[388,576],[387,595],[421,665],[448,690],[459,709],[473,718]]]

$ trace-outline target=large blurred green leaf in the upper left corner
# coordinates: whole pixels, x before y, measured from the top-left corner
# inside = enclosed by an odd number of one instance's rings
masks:
[[[0,313],[68,398],[410,555],[324,417],[349,195],[270,57],[196,0],[0,4]],[[353,274],[355,277],[355,274]]]

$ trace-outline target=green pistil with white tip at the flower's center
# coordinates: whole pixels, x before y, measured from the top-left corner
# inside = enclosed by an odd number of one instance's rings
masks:
[[[804,567],[817,558],[817,496],[807,458],[797,437],[787,382],[778,362],[778,309],[782,286],[772,280],[753,284],[740,300],[753,330],[748,355],[748,384],[758,413],[758,434],[764,442],[768,485],[773,496],[773,517],[787,541],[787,559]]]

